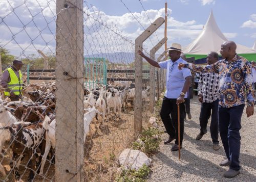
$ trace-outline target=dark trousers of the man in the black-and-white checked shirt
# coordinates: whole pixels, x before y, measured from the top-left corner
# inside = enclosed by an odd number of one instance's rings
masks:
[[[219,100],[215,100],[211,103],[203,102],[201,104],[201,112],[200,112],[200,132],[201,134],[207,133],[207,123],[210,118],[211,113],[211,122],[210,122],[210,136],[212,139],[212,143],[219,144],[219,121],[218,121],[218,107]]]

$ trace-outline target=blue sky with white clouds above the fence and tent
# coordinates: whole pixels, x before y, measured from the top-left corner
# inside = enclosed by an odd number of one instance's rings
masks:
[[[144,29],[156,18],[164,17],[164,3],[164,0],[84,1],[84,54],[133,51],[133,42]],[[193,41],[202,31],[211,9],[229,40],[248,47],[256,40],[255,0],[170,0],[167,3],[168,46],[172,42],[185,46]],[[38,55],[37,49],[55,52],[56,0],[1,0],[0,17],[0,45],[15,56]],[[163,36],[164,25],[143,45],[151,49]]]

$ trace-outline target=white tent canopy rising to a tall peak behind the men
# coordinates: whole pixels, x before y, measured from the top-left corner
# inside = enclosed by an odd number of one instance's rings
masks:
[[[211,10],[203,31],[193,42],[183,48],[183,52],[189,55],[207,55],[210,51],[220,53],[221,44],[226,41],[228,39],[219,29]],[[256,53],[256,50],[237,44],[237,53]]]

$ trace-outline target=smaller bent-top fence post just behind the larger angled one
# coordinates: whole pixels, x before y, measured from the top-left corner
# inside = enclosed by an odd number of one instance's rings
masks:
[[[167,41],[167,38],[163,38],[158,42],[157,45],[155,45],[151,50],[150,50],[150,58],[155,60],[155,54],[156,51],[164,44],[164,42]],[[155,107],[155,96],[156,96],[156,82],[155,82],[155,67],[150,66],[150,112],[154,112],[154,107]]]

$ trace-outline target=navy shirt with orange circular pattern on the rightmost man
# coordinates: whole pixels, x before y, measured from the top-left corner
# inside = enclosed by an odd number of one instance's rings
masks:
[[[253,106],[254,86],[250,63],[243,57],[236,55],[232,61],[220,60],[205,67],[188,64],[196,72],[219,73],[220,100],[219,105],[224,108],[239,106],[247,100],[248,106]],[[246,98],[247,97],[247,98]]]

